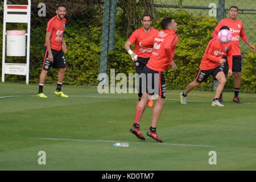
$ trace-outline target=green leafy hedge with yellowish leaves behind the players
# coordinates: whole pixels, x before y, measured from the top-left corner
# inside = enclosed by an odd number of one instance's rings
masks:
[[[169,12],[161,11],[160,17],[170,16]],[[212,31],[217,24],[216,18],[209,16],[193,16],[184,12],[171,15],[178,23],[176,35],[179,37],[175,52],[175,71],[166,71],[166,85],[168,88],[185,88],[189,82],[193,81],[199,70],[200,61],[204,55],[205,48],[210,39]],[[120,16],[121,17],[121,16]],[[122,19],[117,16],[117,24]],[[152,27],[161,30],[160,20],[153,22]],[[2,30],[2,26],[0,26]],[[138,28],[138,27],[137,27]],[[117,30],[121,30],[120,27]],[[30,82],[38,82],[42,69],[43,46],[46,26],[31,29],[31,69]],[[115,32],[115,51],[109,52],[108,73],[110,69],[115,69],[117,73],[134,73],[134,64],[130,55],[126,53],[124,45],[126,43],[124,31]],[[65,54],[67,59],[67,73],[65,84],[71,85],[97,85],[97,76],[100,68],[101,55],[101,35],[102,27],[79,28],[67,24],[64,39],[67,43],[68,52]],[[36,37],[36,39],[33,37]],[[2,37],[0,38],[0,46]],[[2,54],[1,54],[2,55]],[[0,55],[0,61],[2,57]],[[41,61],[38,57],[42,57]],[[57,81],[57,69],[51,69],[46,78],[46,82]],[[20,80],[22,76],[7,76],[6,80]],[[243,90],[255,89],[255,52],[248,52],[246,59],[243,60],[242,84]],[[208,78],[207,83],[199,86],[201,89],[212,89],[213,79]],[[233,78],[228,78],[225,89],[233,88]]]

